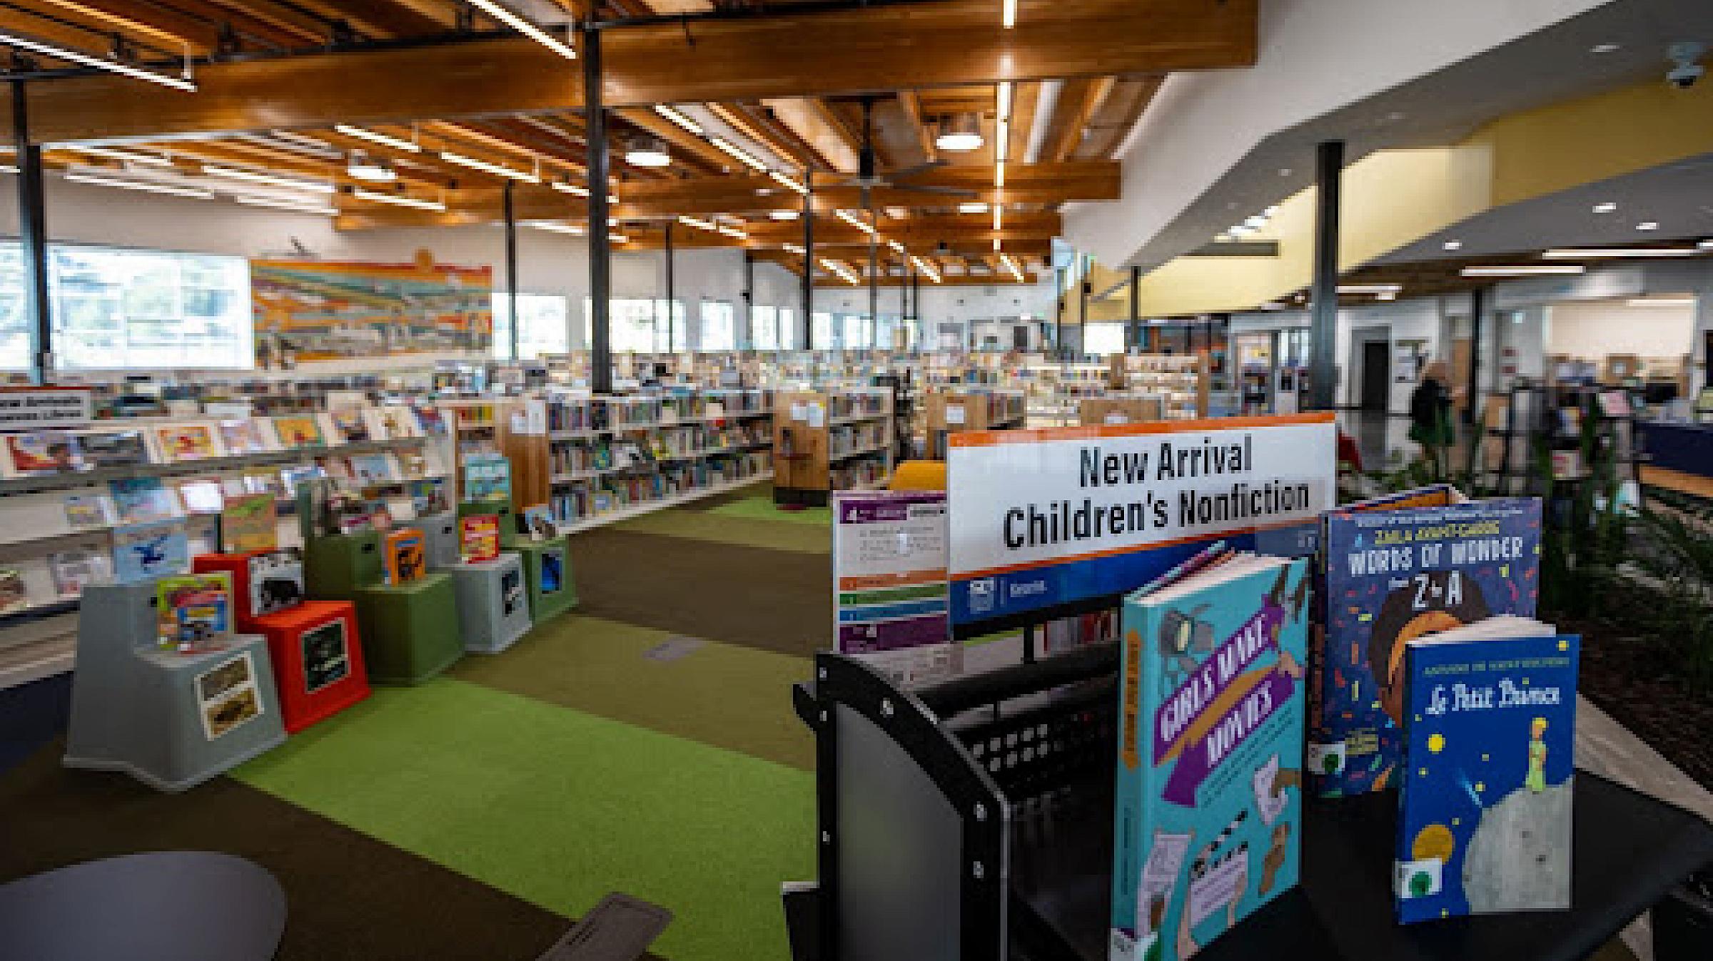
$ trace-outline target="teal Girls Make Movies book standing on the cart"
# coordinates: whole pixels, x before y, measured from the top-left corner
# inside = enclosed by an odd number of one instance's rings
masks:
[[[1124,601],[1112,961],[1180,961],[1297,886],[1305,560]]]

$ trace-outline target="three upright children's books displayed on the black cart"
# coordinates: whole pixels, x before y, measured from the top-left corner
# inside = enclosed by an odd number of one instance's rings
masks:
[[[1124,600],[1112,958],[1182,959],[1298,880],[1302,793],[1398,797],[1400,922],[1569,908],[1579,639],[1542,507],[1449,486],[1213,545]]]

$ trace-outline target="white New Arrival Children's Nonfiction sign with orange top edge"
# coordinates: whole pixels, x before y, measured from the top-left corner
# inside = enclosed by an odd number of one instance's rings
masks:
[[[1115,596],[1209,540],[1305,553],[1334,464],[1331,413],[952,433],[951,620]]]

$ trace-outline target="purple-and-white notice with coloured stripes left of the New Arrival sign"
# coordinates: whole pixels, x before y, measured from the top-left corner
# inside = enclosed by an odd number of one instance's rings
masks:
[[[833,610],[841,654],[901,683],[956,673],[946,620],[946,492],[836,493]]]

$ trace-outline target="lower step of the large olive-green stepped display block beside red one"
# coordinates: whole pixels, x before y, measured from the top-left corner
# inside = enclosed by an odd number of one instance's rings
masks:
[[[351,600],[370,682],[421,683],[464,656],[457,594],[445,574],[409,584],[368,584]]]

